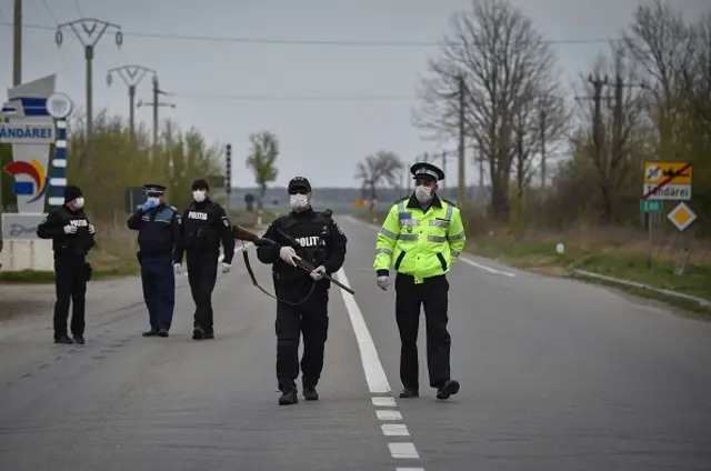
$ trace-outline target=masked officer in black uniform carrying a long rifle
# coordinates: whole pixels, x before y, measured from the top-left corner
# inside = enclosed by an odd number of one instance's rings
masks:
[[[348,239],[331,219],[331,211],[313,211],[311,184],[303,177],[289,182],[292,211],[272,222],[263,238],[276,243],[259,247],[257,257],[272,264],[277,302],[277,380],[282,395],[279,404],[298,402],[299,337],[303,334],[301,359],[303,397],[318,400],[316,387],[323,370],[323,350],[328,337],[330,281],[321,273],[340,270]],[[296,242],[296,243],[294,243]],[[296,245],[296,247],[294,247]],[[296,260],[308,261],[316,270],[308,273]]]

